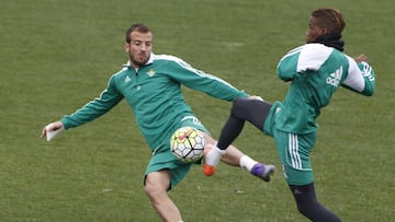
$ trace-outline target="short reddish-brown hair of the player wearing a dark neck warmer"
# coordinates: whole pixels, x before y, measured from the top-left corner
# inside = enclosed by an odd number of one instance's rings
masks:
[[[346,26],[345,19],[337,9],[317,9],[312,12],[312,16],[318,19],[318,25],[328,28],[328,33],[340,34]]]

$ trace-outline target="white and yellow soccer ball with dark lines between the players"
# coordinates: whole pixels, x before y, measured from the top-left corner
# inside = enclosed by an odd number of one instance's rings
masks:
[[[205,139],[202,132],[192,127],[182,127],[171,136],[171,153],[184,163],[193,163],[203,157]]]

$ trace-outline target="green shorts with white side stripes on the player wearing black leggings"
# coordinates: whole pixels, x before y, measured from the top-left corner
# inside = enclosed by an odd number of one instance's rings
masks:
[[[309,154],[316,141],[316,132],[295,135],[273,129],[274,143],[289,185],[306,185],[314,182]]]

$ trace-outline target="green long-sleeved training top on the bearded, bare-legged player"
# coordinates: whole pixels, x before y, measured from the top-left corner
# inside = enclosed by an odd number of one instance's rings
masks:
[[[110,78],[99,97],[61,118],[61,122],[66,129],[78,127],[105,114],[125,98],[154,151],[169,143],[170,135],[180,126],[182,118],[194,116],[185,104],[181,84],[229,102],[248,96],[224,80],[196,70],[177,57],[151,54],[148,62],[139,69],[125,65]]]

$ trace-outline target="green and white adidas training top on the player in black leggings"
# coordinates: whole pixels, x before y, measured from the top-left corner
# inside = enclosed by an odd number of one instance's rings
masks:
[[[372,95],[374,72],[343,52],[323,44],[306,44],[289,51],[276,68],[279,78],[292,81],[275,116],[278,129],[309,133],[318,129],[316,118],[339,85]]]

